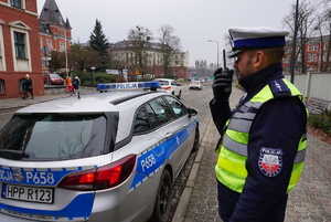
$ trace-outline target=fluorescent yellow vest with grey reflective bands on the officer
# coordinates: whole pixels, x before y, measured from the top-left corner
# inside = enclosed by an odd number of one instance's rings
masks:
[[[247,177],[245,162],[248,156],[247,145],[249,140],[249,130],[260,106],[277,95],[299,96],[299,98],[302,101],[301,93],[286,78],[277,80],[275,83],[270,83],[241,107],[241,109],[245,109],[245,112],[236,112],[226,123],[227,129],[225,130],[223,141],[217,149],[220,150],[220,154],[217,163],[215,166],[216,178],[224,186],[236,192],[243,191]],[[282,89],[278,91],[281,87]],[[287,91],[284,91],[284,88],[287,88]],[[275,94],[275,91],[278,91],[277,95]],[[298,145],[298,151],[293,161],[293,169],[287,192],[289,192],[289,190],[291,190],[299,181],[306,156],[306,147],[307,137],[305,134],[302,135]]]

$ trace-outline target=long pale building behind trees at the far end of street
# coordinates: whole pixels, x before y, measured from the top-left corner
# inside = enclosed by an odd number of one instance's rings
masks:
[[[111,62],[118,70],[128,71],[128,77],[135,74],[148,74],[152,77],[189,78],[189,52],[174,52],[169,64],[168,73],[163,70],[163,54],[159,43],[150,43],[142,51],[143,68],[138,65],[137,56],[130,41],[120,41],[109,49]],[[138,71],[138,72],[137,72]]]

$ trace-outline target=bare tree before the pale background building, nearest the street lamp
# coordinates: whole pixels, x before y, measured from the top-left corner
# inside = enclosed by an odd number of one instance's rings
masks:
[[[181,43],[180,39],[173,34],[174,29],[169,24],[164,24],[159,30],[160,34],[160,50],[162,52],[162,66],[164,75],[170,74],[169,67],[171,62],[174,60],[174,55],[180,51]]]

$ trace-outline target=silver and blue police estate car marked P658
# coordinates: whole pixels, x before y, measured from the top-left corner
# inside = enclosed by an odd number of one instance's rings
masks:
[[[154,91],[18,110],[0,131],[0,221],[167,221],[196,114]]]

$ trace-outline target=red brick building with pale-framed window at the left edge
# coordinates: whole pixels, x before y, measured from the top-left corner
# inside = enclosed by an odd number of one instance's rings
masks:
[[[36,0],[0,0],[0,99],[23,96],[26,74],[44,95],[39,45]]]

